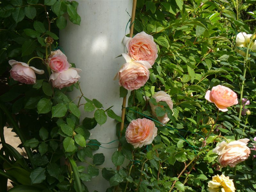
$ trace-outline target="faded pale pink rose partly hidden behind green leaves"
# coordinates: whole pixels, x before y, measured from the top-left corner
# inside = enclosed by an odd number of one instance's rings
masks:
[[[170,97],[170,95],[168,95],[166,92],[164,91],[159,91],[159,92],[156,92],[154,95],[153,95],[153,98],[156,99],[156,102],[159,102],[159,101],[165,101],[167,103],[167,105],[169,106],[169,108],[172,110],[172,107],[173,107],[173,103],[172,103],[172,99]],[[164,107],[164,106],[160,106],[160,105],[153,105],[151,102],[149,102],[149,105],[151,107],[151,111],[152,111],[152,115],[157,117],[156,116],[156,112],[155,112],[155,109],[157,107]],[[159,122],[161,122],[162,124],[166,124],[168,123],[168,121],[170,120],[167,116],[167,113],[164,114],[164,116],[162,117],[157,117],[157,119],[159,120]]]

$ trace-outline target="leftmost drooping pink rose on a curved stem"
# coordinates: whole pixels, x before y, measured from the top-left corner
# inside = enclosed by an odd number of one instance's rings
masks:
[[[9,71],[11,77],[15,81],[19,81],[24,84],[35,84],[36,83],[36,74],[44,74],[44,70],[39,70],[34,67],[28,66],[27,63],[9,60],[9,64],[12,66],[12,69]]]

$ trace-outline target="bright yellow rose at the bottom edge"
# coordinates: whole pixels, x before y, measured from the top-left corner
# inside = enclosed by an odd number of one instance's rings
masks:
[[[234,186],[233,180],[225,175],[215,175],[212,180],[208,183],[209,192],[235,192],[236,188]]]

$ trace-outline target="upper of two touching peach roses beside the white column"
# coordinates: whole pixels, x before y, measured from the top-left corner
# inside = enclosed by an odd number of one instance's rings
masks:
[[[142,31],[133,38],[124,36],[123,43],[132,59],[148,61],[151,66],[155,63],[158,55],[153,36]]]

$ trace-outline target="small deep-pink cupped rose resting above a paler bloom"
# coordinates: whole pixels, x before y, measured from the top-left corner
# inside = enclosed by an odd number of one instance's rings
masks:
[[[68,63],[68,58],[60,50],[54,52],[52,51],[51,55],[52,57],[49,58],[48,63],[53,71],[65,71],[71,67],[71,65]]]

